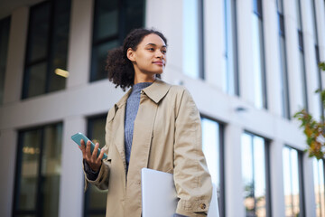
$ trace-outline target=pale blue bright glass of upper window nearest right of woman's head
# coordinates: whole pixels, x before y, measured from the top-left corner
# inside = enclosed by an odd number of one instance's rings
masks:
[[[183,71],[194,79],[200,78],[199,2],[187,0],[183,4]]]

